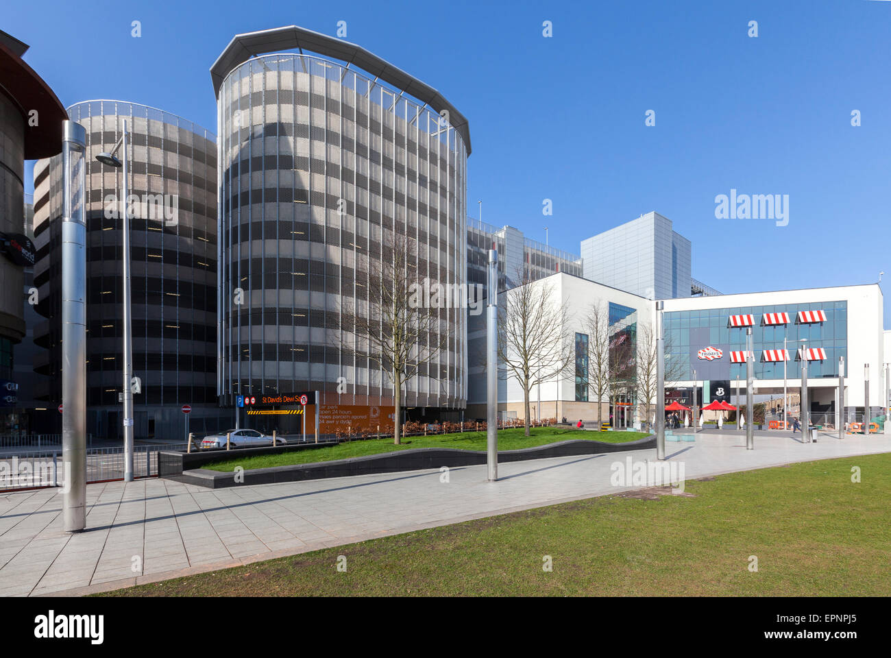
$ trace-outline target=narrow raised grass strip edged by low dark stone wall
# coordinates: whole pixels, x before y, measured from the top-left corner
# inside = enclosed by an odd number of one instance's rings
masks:
[[[517,448],[533,448],[547,443],[556,443],[570,439],[599,440],[605,443],[624,443],[650,436],[645,432],[585,432],[584,430],[532,427],[530,436],[526,437],[522,427],[500,430],[498,432],[498,449],[514,450]],[[339,443],[331,448],[296,450],[279,455],[235,457],[218,462],[211,462],[202,468],[213,471],[232,471],[235,466],[242,468],[266,468],[268,466],[284,466],[291,464],[313,464],[329,462],[332,459],[379,455],[382,452],[405,450],[408,448],[462,448],[465,450],[486,450],[486,432],[463,432],[454,434],[431,434],[429,436],[413,436],[404,438],[401,445],[394,445],[392,439],[367,439]]]

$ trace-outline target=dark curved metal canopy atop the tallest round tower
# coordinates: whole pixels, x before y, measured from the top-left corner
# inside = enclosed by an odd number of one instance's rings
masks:
[[[350,44],[342,39],[329,37],[311,29],[298,28],[296,25],[235,35],[223,53],[217,57],[217,62],[214,62],[214,65],[210,67],[214,94],[219,98],[220,86],[223,85],[225,77],[231,70],[247,62],[251,57],[292,48],[319,53],[347,62],[347,64],[354,64],[359,69],[371,73],[372,76],[396,86],[405,94],[414,96],[421,103],[427,103],[435,111],[448,111],[450,123],[462,136],[464,144],[467,146],[467,154],[470,155],[470,126],[467,119],[432,86],[425,85],[418,78],[413,78],[404,70],[397,69],[377,55],[369,53],[360,45]]]

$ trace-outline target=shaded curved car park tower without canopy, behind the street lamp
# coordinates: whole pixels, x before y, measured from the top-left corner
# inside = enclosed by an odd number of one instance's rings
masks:
[[[180,406],[192,404],[191,429],[216,418],[217,144],[215,136],[165,111],[117,101],[69,107],[86,128],[87,421],[89,432],[116,437],[121,390],[123,323],[122,169],[95,160],[110,152],[127,119],[131,195],[135,435],[180,436]],[[122,153],[118,152],[121,158]],[[61,156],[35,167],[35,285],[38,312],[49,321],[36,342],[49,349],[37,371],[58,384],[61,338]],[[209,423],[216,429],[216,420]]]

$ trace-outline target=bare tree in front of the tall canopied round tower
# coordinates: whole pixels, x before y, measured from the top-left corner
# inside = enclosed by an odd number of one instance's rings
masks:
[[[367,302],[346,302],[354,306],[345,308],[341,319],[345,332],[355,337],[353,347],[345,341],[344,349],[378,364],[393,383],[393,442],[399,445],[403,389],[419,369],[438,370],[438,357],[448,344],[442,307],[449,289],[437,281],[425,286],[413,238],[392,231],[384,235],[380,259],[368,259]],[[425,289],[437,294],[425,295]]]

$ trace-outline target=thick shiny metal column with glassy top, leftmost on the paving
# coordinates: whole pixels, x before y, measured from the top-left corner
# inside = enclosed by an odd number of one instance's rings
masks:
[[[86,528],[86,130],[62,128],[61,461],[62,525]]]

